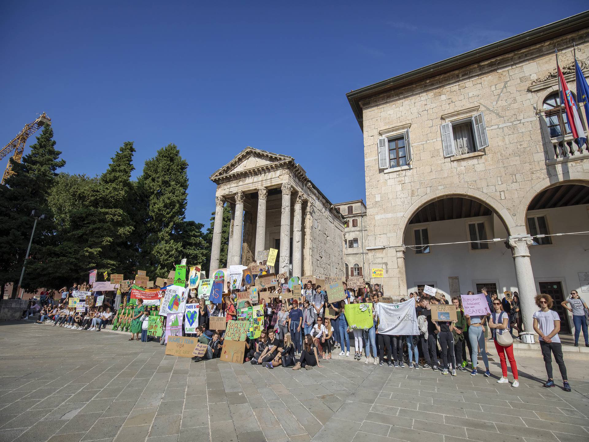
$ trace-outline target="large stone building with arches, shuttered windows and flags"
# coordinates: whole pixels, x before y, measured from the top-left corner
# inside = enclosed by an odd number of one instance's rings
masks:
[[[587,298],[589,236],[548,236],[589,230],[589,148],[566,130],[562,144],[555,70],[558,48],[574,92],[573,42],[587,77],[584,12],[348,94],[389,293],[515,290],[527,331],[537,293]]]

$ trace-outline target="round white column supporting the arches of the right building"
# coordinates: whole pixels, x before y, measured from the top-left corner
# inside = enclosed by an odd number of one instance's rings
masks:
[[[534,298],[536,296],[536,283],[532,272],[532,261],[530,260],[530,246],[534,240],[530,235],[509,236],[508,244],[511,247],[511,254],[514,258],[515,279],[519,293],[519,305],[521,306],[522,321],[525,332],[534,332],[534,312],[538,309]]]

